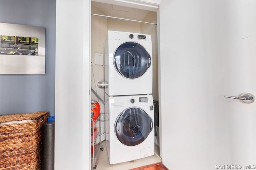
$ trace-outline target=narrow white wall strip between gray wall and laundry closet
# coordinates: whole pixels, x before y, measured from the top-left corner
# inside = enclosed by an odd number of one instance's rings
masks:
[[[56,1],[56,170],[91,167],[90,17],[90,0]]]

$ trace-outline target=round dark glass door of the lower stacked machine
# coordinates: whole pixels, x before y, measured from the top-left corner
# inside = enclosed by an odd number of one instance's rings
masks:
[[[138,108],[128,108],[116,119],[115,133],[122,144],[135,146],[142,143],[152,131],[153,122],[148,114]]]

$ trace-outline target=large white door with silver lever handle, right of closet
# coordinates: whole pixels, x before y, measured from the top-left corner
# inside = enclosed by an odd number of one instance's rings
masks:
[[[256,1],[162,0],[160,127],[170,170],[256,169]],[[160,138],[161,138],[160,136]]]

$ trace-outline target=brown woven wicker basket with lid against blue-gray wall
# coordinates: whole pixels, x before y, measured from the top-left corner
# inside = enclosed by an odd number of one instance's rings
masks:
[[[30,123],[0,125],[0,170],[40,170],[42,125],[48,112],[0,115],[0,123],[34,119]]]

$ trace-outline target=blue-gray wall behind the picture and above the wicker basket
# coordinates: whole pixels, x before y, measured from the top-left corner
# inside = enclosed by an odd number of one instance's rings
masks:
[[[0,115],[54,116],[56,0],[0,0],[0,22],[46,28],[46,74],[0,75]]]

